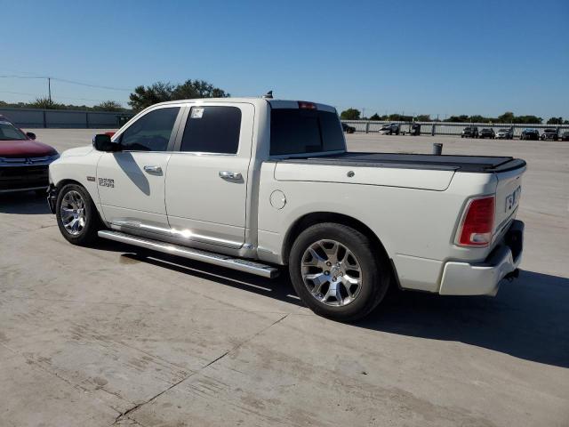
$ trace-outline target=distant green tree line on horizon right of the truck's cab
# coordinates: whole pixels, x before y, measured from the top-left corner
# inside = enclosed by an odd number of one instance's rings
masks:
[[[444,120],[431,118],[429,114],[420,114],[418,116],[405,116],[403,114],[389,114],[380,116],[375,113],[371,117],[362,117],[359,109],[345,109],[340,114],[343,120],[381,120],[391,122],[450,122],[450,123],[511,123],[511,124],[541,124],[543,118],[537,116],[516,116],[511,111],[507,111],[498,117],[484,117],[480,115],[474,116],[451,116]],[[547,125],[569,125],[569,120],[563,117],[550,117]]]

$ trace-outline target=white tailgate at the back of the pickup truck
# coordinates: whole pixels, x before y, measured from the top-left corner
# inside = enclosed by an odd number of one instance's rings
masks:
[[[498,185],[496,187],[496,207],[494,235],[501,234],[510,220],[516,217],[517,206],[522,192],[522,175],[525,166],[507,172],[496,173]]]

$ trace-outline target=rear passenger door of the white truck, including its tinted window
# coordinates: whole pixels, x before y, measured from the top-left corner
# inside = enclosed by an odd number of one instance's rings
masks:
[[[166,176],[174,236],[188,243],[243,246],[253,117],[248,103],[190,106]]]

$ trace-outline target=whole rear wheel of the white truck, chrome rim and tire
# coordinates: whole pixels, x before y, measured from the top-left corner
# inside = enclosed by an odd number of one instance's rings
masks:
[[[302,231],[289,258],[302,302],[318,315],[341,321],[363,318],[381,302],[389,288],[388,265],[364,234],[332,222]]]

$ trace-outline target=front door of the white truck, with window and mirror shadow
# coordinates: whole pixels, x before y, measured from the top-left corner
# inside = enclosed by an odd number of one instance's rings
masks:
[[[115,141],[123,150],[104,153],[97,165],[103,214],[121,227],[167,231],[164,177],[180,123],[179,106],[159,107],[136,119]]]

